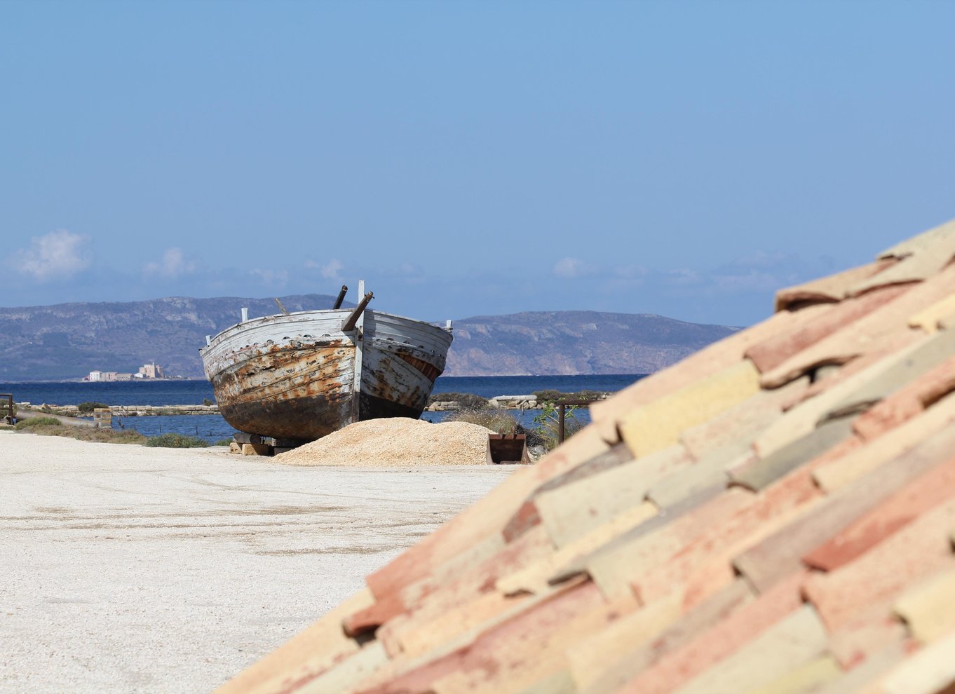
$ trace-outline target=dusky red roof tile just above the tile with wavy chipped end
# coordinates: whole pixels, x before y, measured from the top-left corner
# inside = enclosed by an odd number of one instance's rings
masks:
[[[760,372],[765,373],[778,367],[806,347],[815,345],[822,338],[850,326],[862,316],[887,304],[909,288],[911,285],[906,284],[881,287],[855,299],[847,299],[832,305],[824,312],[820,311],[815,320],[808,325],[798,326],[789,332],[774,335],[758,345],[753,345],[746,350],[746,356],[753,360],[753,364]]]

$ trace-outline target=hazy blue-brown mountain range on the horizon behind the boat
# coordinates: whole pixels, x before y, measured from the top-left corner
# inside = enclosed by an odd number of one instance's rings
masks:
[[[288,311],[329,308],[324,294],[280,297]],[[136,373],[156,362],[167,376],[203,378],[199,348],[273,299],[189,299],[0,308],[0,381],[69,380],[93,370]],[[477,316],[454,324],[447,376],[649,373],[736,329],[663,316],[547,311]]]

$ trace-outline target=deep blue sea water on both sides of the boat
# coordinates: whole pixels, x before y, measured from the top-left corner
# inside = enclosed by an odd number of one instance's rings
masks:
[[[598,390],[616,392],[625,389],[645,374],[611,374],[584,376],[440,376],[435,381],[435,393],[468,392],[484,398],[496,395],[530,395],[536,390],[577,392]],[[13,401],[40,405],[79,405],[99,402],[105,405],[202,405],[203,400],[215,402],[212,384],[189,380],[135,380],[116,382],[0,382],[0,393],[12,393]],[[507,410],[524,427],[535,425],[534,417],[541,410]],[[422,419],[442,421],[450,412],[425,412]],[[578,410],[576,417],[589,421],[586,410]],[[113,417],[114,429],[133,429],[146,436],[160,433],[182,433],[198,436],[209,442],[231,438],[235,430],[219,414],[188,414],[149,417]]]

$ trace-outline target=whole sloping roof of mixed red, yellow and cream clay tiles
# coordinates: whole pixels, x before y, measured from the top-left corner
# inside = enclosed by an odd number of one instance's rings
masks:
[[[781,290],[221,691],[955,691],[953,257]]]

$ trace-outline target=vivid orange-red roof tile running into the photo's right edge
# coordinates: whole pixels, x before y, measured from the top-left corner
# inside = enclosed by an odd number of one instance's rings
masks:
[[[909,482],[802,560],[814,569],[834,571],[953,496],[955,452],[951,460]]]

